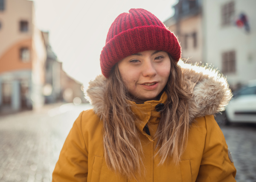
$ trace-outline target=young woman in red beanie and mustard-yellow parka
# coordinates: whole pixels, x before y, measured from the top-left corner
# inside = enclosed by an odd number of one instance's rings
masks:
[[[131,9],[112,23],[83,111],[61,150],[53,182],[234,182],[214,120],[228,104],[215,70],[180,60],[175,35]],[[179,62],[180,65],[177,63]]]

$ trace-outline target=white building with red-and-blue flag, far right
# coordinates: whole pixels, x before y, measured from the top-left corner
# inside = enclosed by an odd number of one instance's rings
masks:
[[[256,0],[204,0],[204,60],[233,89],[256,79]]]

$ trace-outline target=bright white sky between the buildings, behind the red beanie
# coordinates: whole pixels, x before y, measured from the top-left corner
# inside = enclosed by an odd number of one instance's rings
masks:
[[[50,44],[63,69],[86,83],[101,74],[99,56],[115,18],[143,8],[161,21],[173,15],[177,0],[34,0],[36,24],[49,31]]]

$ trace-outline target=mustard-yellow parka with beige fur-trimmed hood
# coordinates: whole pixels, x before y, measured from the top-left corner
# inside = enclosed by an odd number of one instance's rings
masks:
[[[187,73],[185,74],[185,72]],[[190,104],[193,108],[189,113],[191,125],[188,142],[178,165],[172,162],[159,165],[160,159],[155,156],[156,141],[153,138],[160,121],[160,113],[155,110],[155,106],[160,103],[164,104],[167,98],[165,92],[159,101],[146,101],[144,104],[134,103],[131,106],[140,120],[136,126],[140,131],[143,147],[145,175],[140,176],[139,181],[235,182],[236,168],[223,133],[214,117],[207,115],[220,110],[229,101],[230,92],[227,85],[220,81],[218,75],[212,79],[212,75],[202,71],[196,72],[195,68],[185,68],[183,73],[186,75],[185,78],[189,77],[188,83],[193,83],[191,75],[197,74],[200,75],[200,78],[195,79],[197,80],[193,87],[195,101],[191,101]],[[222,86],[219,86],[221,88],[216,89],[215,87],[218,87],[216,85],[221,83]],[[52,174],[53,182],[134,182],[134,180],[128,180],[110,170],[105,162],[103,123],[100,119],[102,109],[100,100],[103,99],[104,84],[105,78],[102,76],[90,84],[88,95],[91,97],[94,108],[83,111],[73,124]],[[211,87],[215,89],[212,90]],[[196,93],[200,90],[204,92],[201,97]],[[212,95],[215,95],[214,98]],[[204,101],[205,99],[207,102]],[[208,104],[211,101],[212,103]],[[140,112],[138,108],[140,108]],[[146,124],[150,135],[143,130]]]

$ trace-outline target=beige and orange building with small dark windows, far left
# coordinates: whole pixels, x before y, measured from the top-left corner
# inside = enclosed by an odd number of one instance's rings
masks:
[[[17,111],[44,104],[46,49],[35,26],[33,2],[0,0],[0,109]]]

